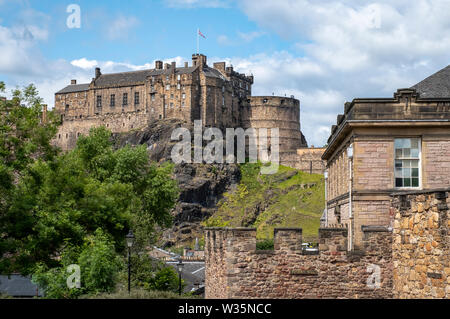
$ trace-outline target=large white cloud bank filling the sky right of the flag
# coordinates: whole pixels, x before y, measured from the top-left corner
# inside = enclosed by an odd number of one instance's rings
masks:
[[[240,8],[260,27],[296,43],[293,53],[249,57],[254,92],[298,92],[308,142],[326,130],[345,100],[392,96],[450,61],[450,1],[252,0]],[[245,65],[246,64],[246,65]]]

